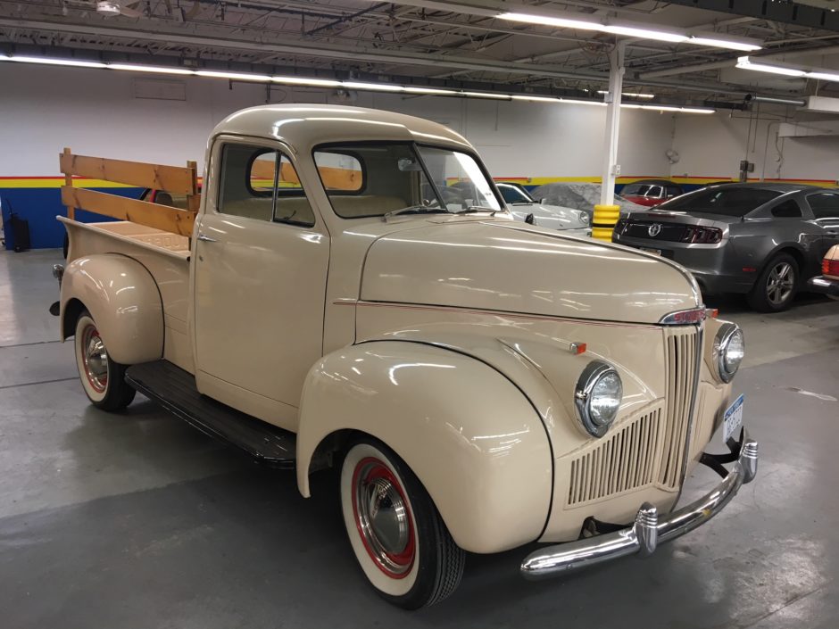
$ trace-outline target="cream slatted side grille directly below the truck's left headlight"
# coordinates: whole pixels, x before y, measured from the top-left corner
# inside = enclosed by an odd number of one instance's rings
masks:
[[[571,461],[568,504],[594,501],[654,480],[662,410],[632,420],[586,454]]]

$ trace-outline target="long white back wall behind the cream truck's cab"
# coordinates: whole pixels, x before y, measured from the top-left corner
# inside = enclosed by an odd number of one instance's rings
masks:
[[[186,100],[137,98],[136,81],[183,82]],[[200,162],[212,127],[266,102],[263,85],[170,79],[116,70],[0,63],[0,177],[58,174],[57,153],[181,164]],[[324,103],[324,90],[272,92],[272,102]],[[336,101],[332,101],[336,102]],[[605,108],[550,103],[360,93],[357,105],[419,115],[469,137],[496,177],[597,177]],[[625,175],[667,175],[674,118],[624,111],[619,161]]]

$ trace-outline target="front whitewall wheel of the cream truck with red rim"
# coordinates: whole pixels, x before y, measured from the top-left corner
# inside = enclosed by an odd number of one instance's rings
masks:
[[[402,459],[373,439],[353,443],[340,486],[355,558],[380,596],[417,609],[454,592],[465,553]]]

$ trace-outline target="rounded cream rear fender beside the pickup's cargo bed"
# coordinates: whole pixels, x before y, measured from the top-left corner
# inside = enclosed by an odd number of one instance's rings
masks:
[[[97,253],[72,261],[62,278],[62,340],[73,335],[82,308],[96,321],[112,360],[133,365],[162,358],[160,291],[136,260]]]

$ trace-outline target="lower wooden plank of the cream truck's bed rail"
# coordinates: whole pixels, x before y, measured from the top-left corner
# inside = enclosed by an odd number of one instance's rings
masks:
[[[129,199],[116,194],[62,186],[62,203],[68,207],[96,212],[114,219],[130,220],[137,225],[162,229],[179,236],[192,236],[195,212],[168,205]]]

